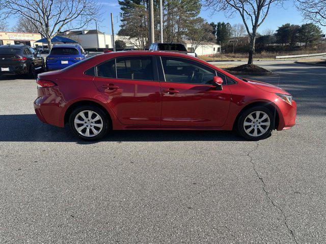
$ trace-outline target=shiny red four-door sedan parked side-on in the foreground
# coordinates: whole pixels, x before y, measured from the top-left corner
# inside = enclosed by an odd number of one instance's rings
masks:
[[[237,130],[260,140],[295,124],[285,90],[180,53],[104,53],[39,74],[37,84],[39,119],[85,140],[111,130]]]

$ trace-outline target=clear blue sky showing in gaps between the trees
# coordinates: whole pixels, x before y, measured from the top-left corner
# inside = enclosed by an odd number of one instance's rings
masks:
[[[99,0],[99,2],[103,5],[103,21],[101,23],[98,23],[98,28],[101,32],[105,32],[107,34],[111,34],[111,19],[110,19],[110,13],[112,12],[114,15],[114,27],[115,27],[115,33],[119,31],[119,24],[120,24],[120,7],[118,4],[118,0]],[[223,12],[215,13],[213,16],[210,15],[211,10],[203,8],[200,16],[206,19],[208,22],[229,22],[230,24],[235,23],[242,23],[242,20],[239,16],[235,15],[233,18],[227,18],[225,17]],[[10,27],[12,27],[15,24],[15,19],[11,18],[8,20]],[[300,12],[296,10],[296,8],[293,5],[293,1],[285,1],[285,4],[282,7],[274,7],[271,8],[269,11],[269,14],[264,21],[264,23],[259,27],[258,32],[262,33],[264,29],[270,28],[274,31],[278,28],[278,26],[281,26],[285,23],[291,23],[291,24],[303,24],[303,18],[300,15]],[[320,26],[323,33],[326,34],[326,27]],[[95,24],[89,26],[88,28],[94,28]]]

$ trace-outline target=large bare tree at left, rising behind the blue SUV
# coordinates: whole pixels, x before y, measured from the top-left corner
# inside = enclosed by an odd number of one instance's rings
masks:
[[[5,18],[23,16],[29,20],[46,38],[49,48],[51,39],[67,24],[83,28],[100,17],[97,0],[0,0],[0,6]]]

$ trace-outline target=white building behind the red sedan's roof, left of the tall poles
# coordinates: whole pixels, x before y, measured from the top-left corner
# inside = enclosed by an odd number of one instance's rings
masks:
[[[61,33],[61,35],[77,41],[83,48],[113,48],[112,35],[102,33],[96,29],[68,31]],[[123,40],[127,48],[137,48],[128,42],[127,37],[115,35],[115,40]]]

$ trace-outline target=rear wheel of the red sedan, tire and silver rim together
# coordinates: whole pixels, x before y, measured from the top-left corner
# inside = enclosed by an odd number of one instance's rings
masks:
[[[74,109],[69,117],[69,125],[74,134],[88,141],[104,137],[109,130],[109,121],[102,109],[92,105]]]

